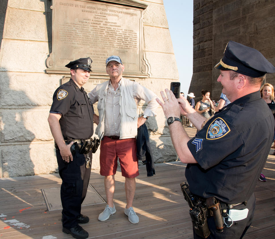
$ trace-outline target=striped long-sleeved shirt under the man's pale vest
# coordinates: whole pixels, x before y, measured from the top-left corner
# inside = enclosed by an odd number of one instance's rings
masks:
[[[106,104],[105,104],[105,136],[120,136],[120,123],[121,117],[119,112],[119,96],[120,96],[120,85],[115,90],[109,80],[109,86],[107,90],[106,96]],[[88,94],[92,104],[98,101],[98,95],[96,88],[94,88]],[[156,94],[151,90],[148,90],[144,86],[134,82],[133,85],[133,98],[135,100],[136,105],[138,106],[140,100],[144,100],[148,103],[148,106],[144,110],[144,115],[146,116],[156,116],[155,110],[158,108],[158,102],[156,102]]]

